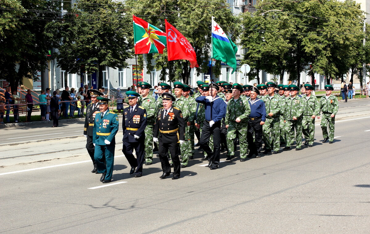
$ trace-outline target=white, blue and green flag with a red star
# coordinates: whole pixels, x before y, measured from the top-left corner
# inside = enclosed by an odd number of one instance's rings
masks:
[[[212,17],[212,58],[231,66],[233,68],[232,73],[234,73],[236,70],[236,52],[238,52],[238,47]]]

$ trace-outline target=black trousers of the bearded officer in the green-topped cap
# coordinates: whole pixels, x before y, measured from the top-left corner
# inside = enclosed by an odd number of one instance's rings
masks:
[[[134,152],[136,153],[136,158]],[[140,142],[123,142],[122,152],[127,158],[131,167],[135,167],[135,174],[142,174],[142,165],[144,164],[144,141]]]

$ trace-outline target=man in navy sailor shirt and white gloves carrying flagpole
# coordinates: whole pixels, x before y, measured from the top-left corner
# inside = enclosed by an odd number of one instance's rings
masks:
[[[201,148],[206,152],[210,161],[209,168],[217,169],[220,163],[220,144],[221,144],[221,120],[226,115],[226,103],[217,95],[218,85],[209,85],[210,96],[201,96],[195,99],[196,102],[205,106],[205,121],[201,135]],[[213,152],[208,145],[209,138],[213,135]]]

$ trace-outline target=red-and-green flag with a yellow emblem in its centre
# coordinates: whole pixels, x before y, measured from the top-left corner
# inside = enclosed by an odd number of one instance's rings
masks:
[[[163,54],[163,49],[166,47],[166,33],[134,15],[132,20],[135,54]]]

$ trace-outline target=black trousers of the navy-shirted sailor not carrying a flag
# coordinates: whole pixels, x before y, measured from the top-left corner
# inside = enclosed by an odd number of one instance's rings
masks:
[[[247,141],[250,154],[260,155],[262,149],[262,125],[261,118],[248,120]],[[253,142],[253,134],[255,142]]]

